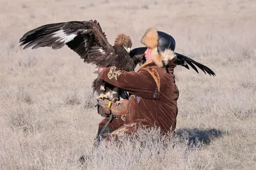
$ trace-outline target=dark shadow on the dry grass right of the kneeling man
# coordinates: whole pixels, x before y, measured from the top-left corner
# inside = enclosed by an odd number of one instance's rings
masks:
[[[216,128],[180,128],[175,133],[180,139],[188,140],[189,148],[197,147],[198,144],[210,144],[212,139],[223,136],[223,132]]]

